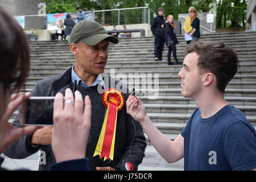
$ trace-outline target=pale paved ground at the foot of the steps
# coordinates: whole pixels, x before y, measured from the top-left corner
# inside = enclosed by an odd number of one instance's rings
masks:
[[[25,159],[10,159],[5,155],[1,155],[5,158],[2,167],[8,169],[26,168],[32,171],[38,170],[38,159],[40,151],[28,156]],[[153,146],[147,146],[145,152],[145,158],[141,165],[139,165],[139,171],[180,171],[183,170],[184,160],[181,159],[176,163],[168,164],[156,151]]]

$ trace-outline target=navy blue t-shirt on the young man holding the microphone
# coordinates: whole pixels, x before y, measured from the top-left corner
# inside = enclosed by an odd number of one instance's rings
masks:
[[[256,168],[255,129],[232,105],[206,119],[197,108],[180,134],[184,138],[184,170]]]

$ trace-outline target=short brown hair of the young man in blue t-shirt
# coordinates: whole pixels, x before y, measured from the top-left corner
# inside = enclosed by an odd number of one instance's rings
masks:
[[[196,42],[188,44],[185,55],[196,52],[200,73],[212,72],[217,78],[217,88],[224,93],[228,82],[236,75],[238,57],[232,47],[221,42]]]

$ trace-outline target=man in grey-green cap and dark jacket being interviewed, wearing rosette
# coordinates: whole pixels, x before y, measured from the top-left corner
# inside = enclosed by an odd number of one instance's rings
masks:
[[[141,125],[127,114],[126,105],[117,112],[113,160],[94,156],[106,111],[102,103],[102,92],[114,87],[122,93],[124,103],[129,96],[129,89],[125,84],[104,73],[109,42],[117,44],[118,39],[108,35],[99,23],[90,20],[77,23],[70,36],[75,64],[63,74],[36,83],[31,96],[55,96],[59,92],[64,94],[67,88],[79,90],[83,97],[88,95],[92,102],[92,123],[86,147],[90,170],[137,170],[144,158],[146,142]],[[14,125],[18,125],[18,119],[15,119]],[[38,150],[44,151],[46,163],[39,163],[39,170],[49,170],[49,166],[56,163],[51,148],[51,136],[52,127],[44,127],[19,139],[4,154],[10,158],[21,159]]]

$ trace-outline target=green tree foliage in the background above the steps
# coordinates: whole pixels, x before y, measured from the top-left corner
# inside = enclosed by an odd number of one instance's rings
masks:
[[[198,12],[208,12],[209,4],[217,7],[217,27],[244,27],[246,17],[246,0],[42,0],[47,3],[47,13],[76,12],[79,5],[85,11],[122,9],[129,7],[148,6],[158,14],[158,8],[164,8],[164,16],[173,14],[177,19],[179,14],[188,13],[188,8],[194,6]],[[143,10],[120,11],[120,24],[130,24],[143,19]],[[107,11],[97,14],[97,22],[102,24],[117,24],[117,11]],[[151,19],[153,13],[151,12]]]

